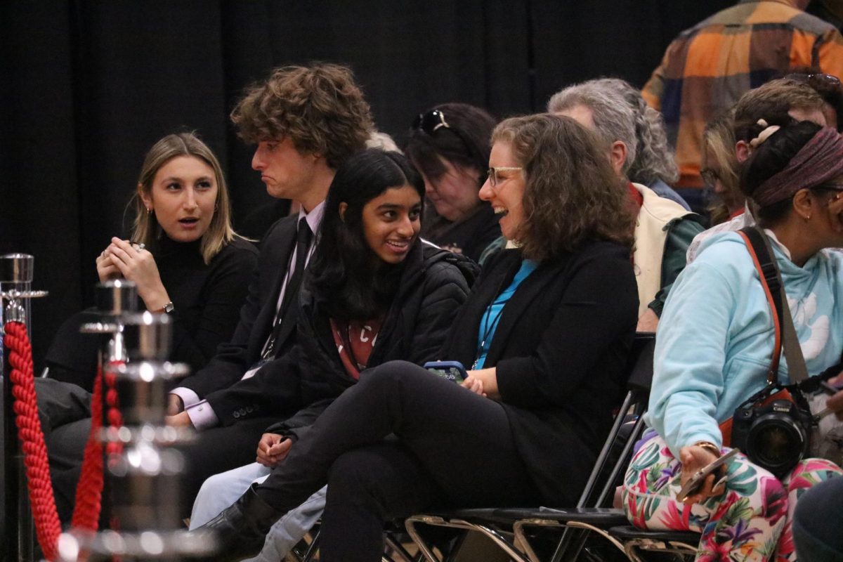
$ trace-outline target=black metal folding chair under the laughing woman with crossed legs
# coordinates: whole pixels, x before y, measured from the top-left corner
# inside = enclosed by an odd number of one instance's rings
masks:
[[[418,532],[419,523],[483,533],[516,562],[541,562],[531,542],[537,530],[545,531],[544,534],[548,530],[562,532],[550,557],[552,562],[577,559],[588,539],[588,533],[583,530],[598,533],[626,555],[625,544],[608,532],[611,527],[624,525],[626,515],[610,506],[615,486],[620,483],[631,458],[632,447],[642,433],[642,414],[647,408],[652,381],[654,345],[653,334],[636,335],[626,398],[576,507],[467,509],[408,517],[405,521],[407,532],[425,559],[440,562]]]

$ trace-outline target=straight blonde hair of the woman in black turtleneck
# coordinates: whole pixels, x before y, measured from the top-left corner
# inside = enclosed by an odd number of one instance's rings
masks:
[[[231,226],[231,213],[228,209],[228,188],[225,184],[223,169],[211,148],[201,142],[192,132],[180,132],[164,136],[149,149],[143,159],[141,175],[137,179],[137,191],[133,197],[135,206],[135,222],[132,240],[154,247],[156,239],[161,233],[158,220],[154,212],[149,212],[143,204],[141,194],[151,196],[153,180],[158,170],[177,156],[192,156],[199,158],[213,169],[214,179],[217,181],[217,201],[215,201],[213,218],[205,234],[202,235],[200,251],[202,260],[210,263],[226,244],[238,237]],[[130,203],[131,205],[131,203]]]

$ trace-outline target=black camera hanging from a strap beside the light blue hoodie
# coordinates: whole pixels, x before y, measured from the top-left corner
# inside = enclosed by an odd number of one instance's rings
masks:
[[[781,479],[807,456],[812,425],[807,408],[785,399],[762,405],[753,397],[735,410],[732,447]]]

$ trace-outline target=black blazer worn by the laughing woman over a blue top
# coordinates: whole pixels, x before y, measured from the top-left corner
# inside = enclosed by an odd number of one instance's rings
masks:
[[[486,307],[513,280],[520,250],[484,265],[443,358],[469,367]],[[484,367],[497,367],[518,451],[551,505],[575,505],[620,404],[638,292],[630,252],[588,242],[547,260],[503,308]]]

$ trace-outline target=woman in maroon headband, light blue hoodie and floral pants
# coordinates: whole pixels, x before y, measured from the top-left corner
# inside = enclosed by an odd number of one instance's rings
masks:
[[[843,254],[827,250],[843,245],[843,138],[803,121],[766,127],[753,146],[741,189],[760,207],[799,347],[808,373],[817,374],[843,350]],[[698,560],[796,559],[790,522],[797,497],[843,472],[803,458],[777,478],[741,453],[684,501],[677,498],[697,470],[728,451],[718,425],[765,388],[774,339],[743,238],[708,238],[677,279],[658,325],[651,429],[623,488],[635,525],[702,533]],[[778,378],[791,382],[784,359]]]

